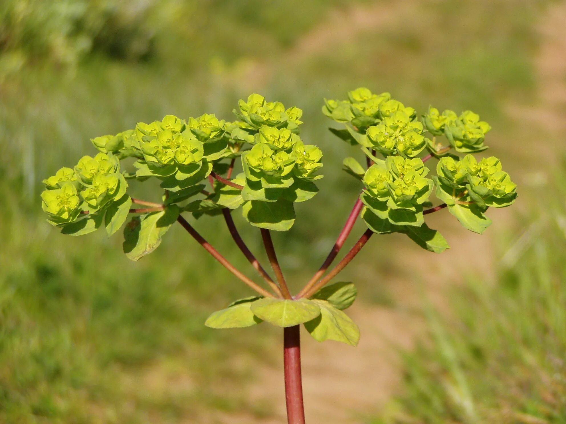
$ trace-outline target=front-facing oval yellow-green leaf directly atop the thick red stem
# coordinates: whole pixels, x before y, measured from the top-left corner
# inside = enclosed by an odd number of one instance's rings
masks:
[[[320,315],[320,306],[305,298],[297,300],[263,298],[251,304],[251,311],[277,327],[292,327]]]

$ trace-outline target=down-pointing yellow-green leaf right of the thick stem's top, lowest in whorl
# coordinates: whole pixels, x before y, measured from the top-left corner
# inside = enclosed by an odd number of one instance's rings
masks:
[[[359,341],[358,326],[329,302],[315,300],[320,307],[320,315],[305,323],[305,328],[316,341],[335,340],[356,347]]]

